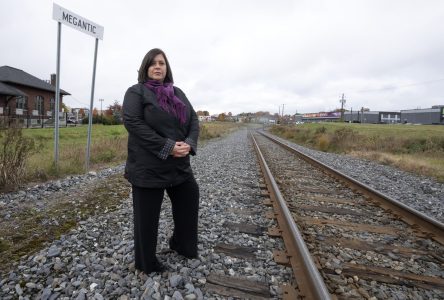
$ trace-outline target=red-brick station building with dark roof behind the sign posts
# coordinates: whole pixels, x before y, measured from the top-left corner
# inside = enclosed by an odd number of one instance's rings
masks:
[[[2,125],[16,123],[24,127],[36,127],[53,120],[55,79],[55,74],[51,74],[48,82],[13,67],[0,67]],[[70,94],[60,89],[60,110],[64,95]]]

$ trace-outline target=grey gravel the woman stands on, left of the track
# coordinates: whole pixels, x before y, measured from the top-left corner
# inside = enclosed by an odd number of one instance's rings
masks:
[[[292,280],[290,269],[276,265],[272,259],[272,250],[283,249],[282,241],[265,233],[244,234],[225,226],[226,222],[244,222],[267,228],[273,223],[264,218],[259,168],[246,130],[208,143],[199,149],[192,164],[201,191],[198,259],[188,260],[168,250],[172,216],[166,197],[158,257],[168,272],[146,275],[135,271],[132,202],[123,199],[116,210],[80,221],[75,229],[41,251],[22,257],[0,279],[0,298],[224,299],[206,288],[210,275],[264,283],[270,296],[279,298],[278,285]],[[108,170],[110,174],[115,172],[121,172],[121,167]],[[49,186],[55,186],[56,193],[67,185],[81,188],[88,180],[101,179],[106,179],[106,174],[79,176],[74,181],[35,187],[32,193],[8,195],[0,201],[9,208],[20,201],[44,201]],[[26,197],[28,194],[33,195],[32,199]],[[226,256],[214,250],[219,244],[252,247],[256,259]]]

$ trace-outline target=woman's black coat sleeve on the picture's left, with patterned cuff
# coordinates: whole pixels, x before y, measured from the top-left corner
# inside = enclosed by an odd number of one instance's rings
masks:
[[[126,130],[135,137],[139,146],[160,159],[167,159],[176,144],[174,140],[160,136],[146,124],[143,116],[142,95],[134,86],[125,93],[123,124]]]

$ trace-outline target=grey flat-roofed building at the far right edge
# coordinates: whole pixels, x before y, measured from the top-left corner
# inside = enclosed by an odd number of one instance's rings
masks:
[[[413,124],[444,124],[444,105],[432,108],[401,110],[401,122]]]

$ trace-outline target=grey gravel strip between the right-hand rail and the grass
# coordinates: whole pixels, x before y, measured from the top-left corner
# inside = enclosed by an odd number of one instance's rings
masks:
[[[372,161],[316,151],[278,139],[444,223],[444,184],[432,178],[416,176]]]

